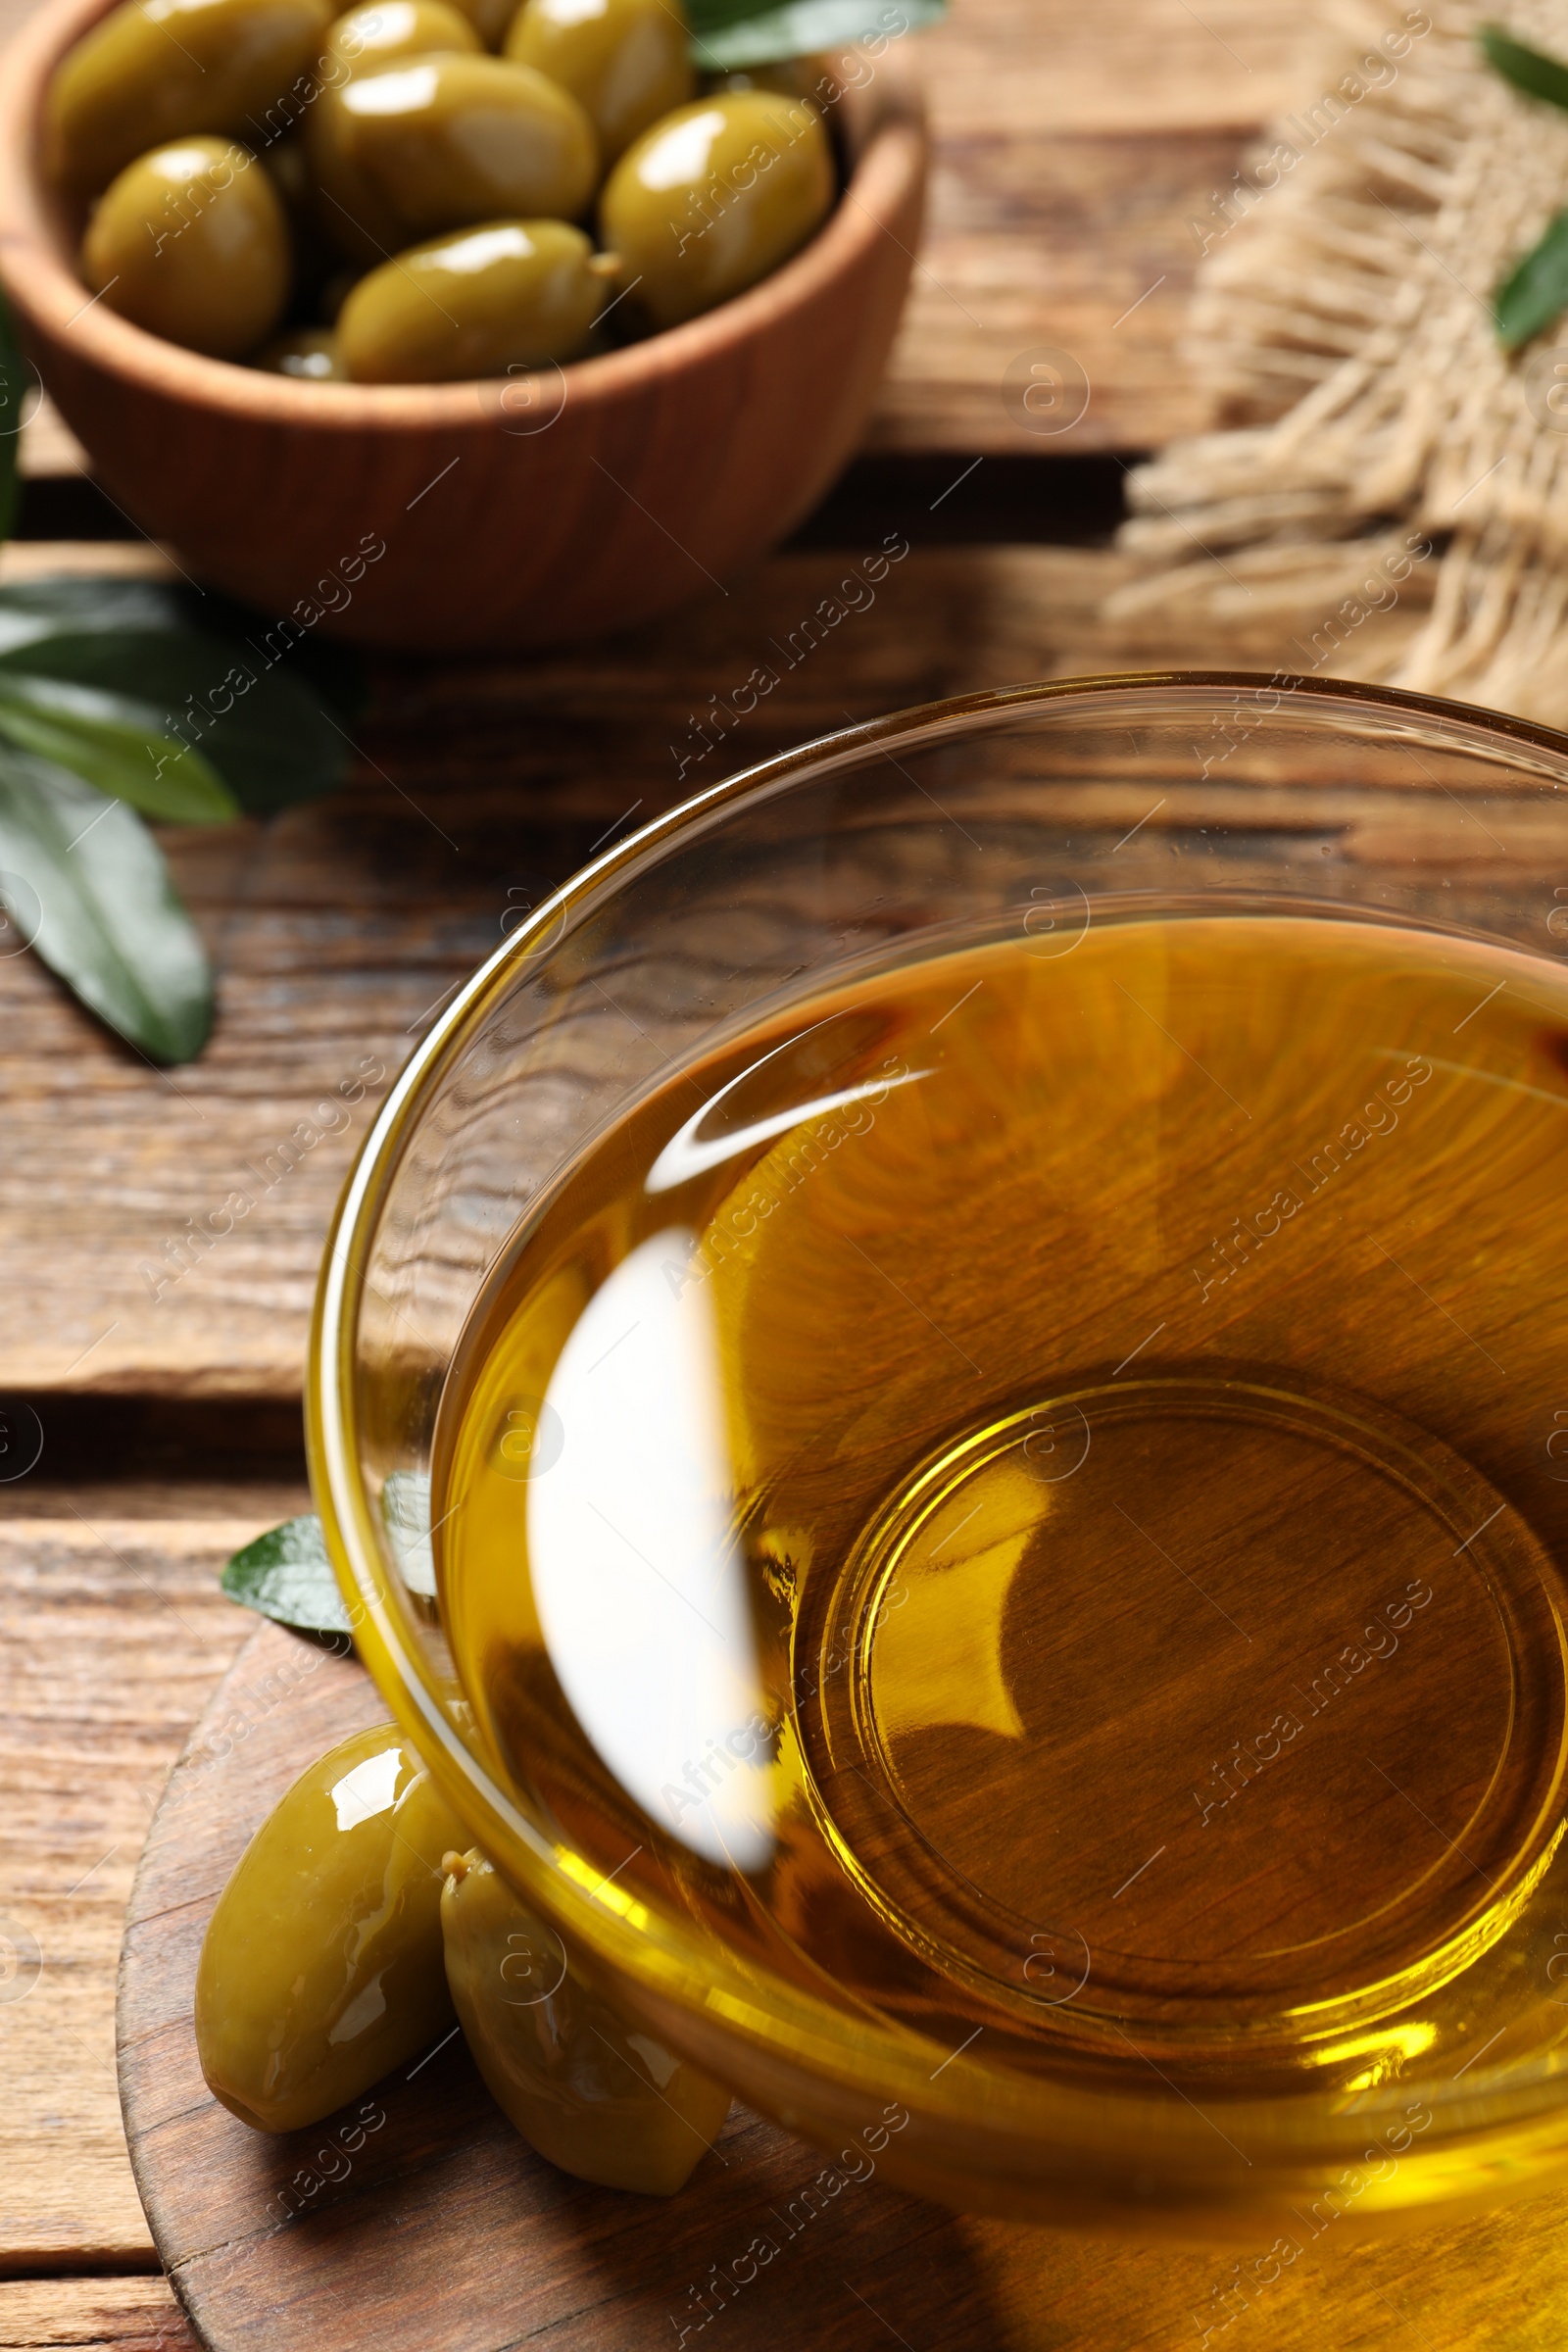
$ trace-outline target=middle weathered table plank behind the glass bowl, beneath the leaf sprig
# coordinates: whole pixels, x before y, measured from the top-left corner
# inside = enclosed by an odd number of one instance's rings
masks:
[[[381,666],[339,797],[266,828],[169,835],[219,969],[193,1068],[153,1070],[33,957],[0,960],[0,1388],[296,1397],[327,1218],[388,1077],[517,906],[616,823],[945,694],[1171,659],[1272,668],[1324,609],[1307,588],[1305,616],[1262,600],[1251,621],[1112,628],[1117,555],[914,546],[872,604],[785,663],[860,553],[778,557],[654,628],[527,663]],[[717,703],[757,663],[780,682],[731,724]],[[1145,802],[1135,781],[1121,790],[1131,826]],[[315,1117],[360,1082],[353,1110]],[[301,1136],[317,1141],[284,1174]],[[190,1221],[221,1221],[230,1200],[252,1207],[193,1249]]]

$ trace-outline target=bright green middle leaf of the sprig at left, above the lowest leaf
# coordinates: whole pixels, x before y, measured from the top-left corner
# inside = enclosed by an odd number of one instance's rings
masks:
[[[169,826],[226,826],[240,809],[200,750],[172,743],[150,703],[0,668],[0,734]]]

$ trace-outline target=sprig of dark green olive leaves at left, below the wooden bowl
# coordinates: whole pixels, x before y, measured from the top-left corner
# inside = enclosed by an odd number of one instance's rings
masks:
[[[0,539],[33,372],[0,299]],[[200,588],[45,579],[0,588],[0,906],[113,1030],[190,1061],[207,953],[141,818],[221,826],[343,781],[353,654]]]

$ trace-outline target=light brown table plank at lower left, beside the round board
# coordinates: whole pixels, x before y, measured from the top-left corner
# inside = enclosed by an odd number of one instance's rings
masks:
[[[214,1501],[78,1482],[0,1524],[0,2277],[153,2263],[113,2063],[125,1900],[165,1776],[254,1625],[216,1571],[308,1508],[277,1486]],[[0,2300],[0,2345],[31,2343],[5,2326],[45,2310]]]

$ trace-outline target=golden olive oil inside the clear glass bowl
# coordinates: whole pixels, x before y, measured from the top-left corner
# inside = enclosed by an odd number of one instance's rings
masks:
[[[515,1780],[741,1962],[1088,2082],[1540,2053],[1568,978],[1168,910],[769,1009],[512,1237],[435,1519]]]

